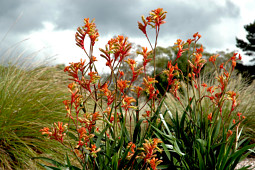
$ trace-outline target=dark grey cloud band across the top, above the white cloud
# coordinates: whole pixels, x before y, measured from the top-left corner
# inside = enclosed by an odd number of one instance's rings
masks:
[[[240,10],[230,1],[217,5],[214,1],[145,1],[145,0],[6,0],[0,2],[0,28],[6,32],[23,12],[11,35],[27,34],[43,29],[43,22],[52,22],[56,30],[75,29],[84,18],[95,18],[101,35],[123,34],[143,36],[137,29],[141,15],[158,7],[167,11],[167,23],[162,26],[165,36],[188,36],[206,32],[224,18],[236,18]],[[0,35],[1,38],[1,35]]]

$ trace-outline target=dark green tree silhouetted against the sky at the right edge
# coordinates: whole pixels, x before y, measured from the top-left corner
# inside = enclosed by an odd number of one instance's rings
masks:
[[[251,61],[255,61],[255,20],[253,23],[244,26],[244,29],[247,31],[246,39],[236,38],[236,46],[242,51],[245,52],[245,55],[251,56]]]

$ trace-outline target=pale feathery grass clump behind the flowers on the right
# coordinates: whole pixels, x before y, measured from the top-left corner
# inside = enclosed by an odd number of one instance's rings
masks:
[[[204,73],[202,76],[202,82],[205,82],[207,84],[207,87],[210,87],[214,84],[216,84],[215,80],[215,74],[210,73]],[[188,94],[185,90],[185,84],[182,83],[181,85],[182,89],[180,90],[180,100],[184,103],[184,99],[187,98]],[[203,94],[206,93],[206,89],[204,89]],[[237,100],[237,106],[236,109],[241,111],[242,113],[245,113],[245,117],[247,118],[244,122],[244,130],[243,130],[243,137],[249,137],[253,142],[255,141],[255,133],[254,133],[254,121],[255,121],[255,82],[249,84],[247,79],[245,77],[242,77],[240,74],[236,74],[234,72],[232,74],[232,78],[228,83],[227,91],[235,91],[236,92],[236,100]],[[192,89],[189,90],[189,96],[193,96],[194,91]],[[201,94],[201,95],[203,95]],[[198,94],[196,94],[198,95]],[[167,98],[165,99],[165,104],[167,105],[167,109],[169,109],[170,113],[175,113],[176,111],[178,114],[181,114],[184,112],[183,107],[181,104],[175,100],[173,96],[170,94],[167,94]],[[184,103],[187,104],[187,103]],[[208,110],[208,112],[211,112],[210,110],[212,103],[209,99],[204,99],[202,101],[202,108],[203,110]],[[229,114],[229,107],[231,107],[231,101],[226,101],[224,107],[223,107],[223,115],[227,116]],[[231,114],[230,119],[236,119],[237,111],[233,111]],[[170,116],[171,117],[171,116]]]

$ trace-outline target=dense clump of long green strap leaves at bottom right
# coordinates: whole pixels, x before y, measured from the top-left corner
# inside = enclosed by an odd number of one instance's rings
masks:
[[[246,151],[255,147],[255,144],[248,145],[247,139],[241,140],[237,143],[238,147],[235,147],[236,136],[226,136],[224,129],[220,130],[221,118],[214,119],[212,124],[208,123],[207,117],[194,122],[188,116],[190,110],[191,107],[188,106],[181,117],[176,112],[176,116],[170,116],[168,122],[162,118],[165,127],[155,128],[165,145],[180,150],[178,154],[169,153],[169,149],[164,147],[165,153],[172,156],[168,156],[169,160],[164,161],[168,168],[174,165],[181,169],[234,169],[240,160],[247,157]],[[228,128],[233,130],[236,125]],[[175,140],[169,138],[169,134],[175,134]]]

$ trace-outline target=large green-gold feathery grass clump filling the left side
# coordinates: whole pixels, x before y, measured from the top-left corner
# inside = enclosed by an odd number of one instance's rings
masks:
[[[61,157],[62,147],[48,143],[38,129],[62,119],[66,92],[62,70],[31,62],[36,53],[27,56],[15,49],[0,56],[0,167],[34,169],[31,157]]]

